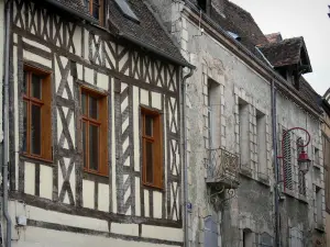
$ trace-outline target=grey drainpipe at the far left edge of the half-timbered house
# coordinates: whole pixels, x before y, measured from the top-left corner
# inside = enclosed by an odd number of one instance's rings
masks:
[[[2,188],[3,188],[3,216],[7,222],[6,247],[11,247],[11,217],[8,212],[8,165],[9,165],[9,52],[10,52],[10,1],[6,4],[6,40],[4,40],[4,83],[3,83],[3,162],[2,162]]]

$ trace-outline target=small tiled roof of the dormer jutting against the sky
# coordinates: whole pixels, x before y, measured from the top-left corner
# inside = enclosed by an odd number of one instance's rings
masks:
[[[302,46],[302,37],[293,37],[258,47],[274,67],[282,67],[298,64]]]

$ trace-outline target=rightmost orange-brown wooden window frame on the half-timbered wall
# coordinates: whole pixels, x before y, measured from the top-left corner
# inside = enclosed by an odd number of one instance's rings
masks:
[[[145,116],[153,119],[153,136],[145,134]],[[160,112],[141,108],[142,182],[145,187],[163,190],[163,124]],[[153,182],[146,181],[146,142],[153,143]]]

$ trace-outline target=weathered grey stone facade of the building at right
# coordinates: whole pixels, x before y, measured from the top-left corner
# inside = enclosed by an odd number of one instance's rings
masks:
[[[152,3],[161,0],[150,0]],[[245,234],[253,239],[253,245],[268,244],[274,242],[274,167],[273,167],[273,136],[272,136],[272,104],[271,80],[263,77],[255,68],[248,65],[248,58],[234,53],[221,43],[222,34],[209,27],[209,23],[200,20],[199,14],[190,5],[173,1],[161,1],[162,5],[172,7],[172,32],[180,43],[182,54],[197,67],[193,77],[187,82],[187,131],[188,131],[188,200],[193,205],[189,212],[189,246],[205,246],[208,239],[205,218],[212,217],[219,225],[218,246],[242,247]],[[156,5],[154,5],[156,8]],[[235,9],[238,7],[232,7]],[[161,16],[167,18],[162,9],[157,9]],[[240,9],[240,11],[242,11]],[[193,13],[191,13],[193,12]],[[226,12],[226,11],[224,11]],[[164,15],[163,15],[164,14]],[[178,18],[179,15],[179,18]],[[249,13],[246,16],[251,15]],[[252,18],[251,18],[252,20]],[[168,20],[167,20],[168,21]],[[200,22],[200,23],[199,23]],[[218,23],[221,26],[221,22]],[[205,29],[202,33],[200,27]],[[246,24],[248,26],[248,24]],[[206,31],[206,27],[210,32]],[[222,29],[226,26],[221,26]],[[258,27],[254,27],[256,32]],[[224,30],[226,31],[226,30]],[[211,33],[213,32],[213,33]],[[180,36],[178,36],[178,33]],[[249,33],[246,31],[246,33]],[[219,38],[217,38],[219,35]],[[261,41],[266,40],[263,34],[257,34]],[[246,42],[248,47],[249,44]],[[257,41],[254,45],[257,44]],[[232,45],[234,46],[234,44]],[[235,47],[235,46],[234,46]],[[249,48],[254,48],[250,46]],[[256,50],[253,50],[255,53]],[[251,59],[251,57],[249,58]],[[255,58],[253,58],[255,59]],[[219,116],[212,123],[217,123],[215,136],[209,136],[209,94],[208,81],[216,85],[218,91],[217,104],[211,105]],[[213,87],[213,86],[212,86]],[[283,130],[294,126],[307,128],[311,134],[311,144],[307,153],[312,159],[314,148],[321,149],[320,122],[309,114],[312,111],[302,109],[301,104],[294,103],[287,96],[277,92],[277,137],[280,141]],[[240,124],[240,111],[246,105],[246,119],[244,125]],[[240,110],[241,109],[241,110]],[[257,117],[265,117],[265,139],[263,144],[257,141]],[[245,122],[246,121],[246,122]],[[248,135],[242,138],[242,128]],[[246,154],[246,161],[241,162],[240,187],[235,190],[237,197],[229,200],[222,210],[215,210],[210,203],[210,188],[206,183],[208,175],[208,148],[209,139],[213,147],[221,147],[232,154],[242,157]],[[297,164],[297,150],[294,138],[306,136],[295,132],[292,138],[293,159],[293,191],[284,194],[285,200],[279,202],[282,218],[282,244],[283,247],[293,246],[293,243],[301,243],[310,246],[312,233],[316,227],[316,181],[312,177],[314,167],[306,175],[306,197],[299,192],[299,176]],[[241,141],[241,138],[243,141]],[[246,145],[241,145],[245,142]],[[260,159],[258,145],[264,145],[266,155]],[[280,155],[280,150],[278,151]],[[320,172],[322,173],[322,159],[319,158]],[[262,169],[261,169],[262,167]],[[262,172],[261,172],[262,170]],[[323,181],[319,181],[322,190]],[[280,186],[282,187],[282,183]],[[228,191],[226,190],[226,193]],[[323,192],[322,192],[323,194]],[[228,197],[226,194],[226,197]],[[322,195],[323,197],[323,195]],[[323,205],[323,200],[322,200]],[[322,221],[321,224],[324,224]]]

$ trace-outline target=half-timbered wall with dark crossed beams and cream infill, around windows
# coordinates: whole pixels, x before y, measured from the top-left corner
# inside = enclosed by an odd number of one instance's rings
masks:
[[[10,123],[14,126],[10,132],[11,198],[37,207],[107,218],[109,225],[124,222],[180,228],[182,67],[151,56],[132,44],[119,44],[105,30],[68,21],[31,1],[13,0],[11,3]],[[20,96],[24,64],[52,74],[53,162],[30,159],[21,153]],[[79,86],[108,96],[109,177],[82,170]],[[145,188],[141,182],[141,105],[162,114],[164,190]],[[52,181],[43,180],[45,172],[52,175]],[[29,181],[31,178],[34,181]],[[86,199],[90,195],[85,191],[87,186],[94,188],[91,204]],[[155,199],[155,192],[161,197]],[[100,198],[109,203],[105,206]],[[153,204],[158,199],[162,213],[155,215]],[[30,221],[29,224],[40,223]]]

